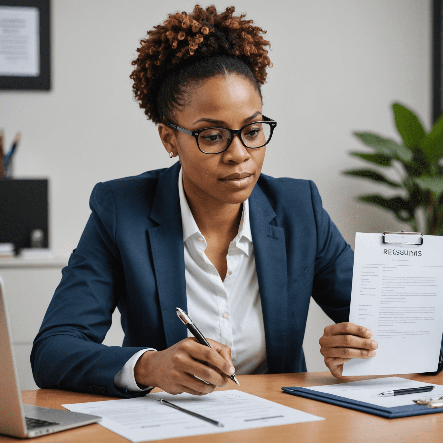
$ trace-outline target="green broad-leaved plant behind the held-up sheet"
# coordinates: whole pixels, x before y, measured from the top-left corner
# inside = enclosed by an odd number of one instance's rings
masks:
[[[419,118],[399,103],[392,105],[395,124],[402,143],[370,132],[354,132],[373,152],[352,152],[367,162],[389,168],[396,179],[388,179],[374,169],[344,171],[364,179],[396,188],[401,194],[391,198],[379,194],[360,195],[361,202],[392,211],[412,231],[443,235],[443,115],[426,132]],[[421,220],[424,220],[420,223]]]

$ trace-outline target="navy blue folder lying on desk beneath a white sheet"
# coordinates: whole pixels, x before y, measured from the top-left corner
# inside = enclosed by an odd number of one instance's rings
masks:
[[[367,412],[368,414],[385,418],[410,417],[443,412],[443,408],[427,408],[424,404],[409,404],[408,406],[385,408],[384,406],[377,406],[376,404],[365,403],[364,401],[351,400],[350,398],[326,394],[325,392],[312,391],[311,389],[301,388],[299,386],[282,389],[284,392],[291,395],[323,401],[324,403],[335,404],[337,406],[342,406],[343,408],[355,409],[356,411]]]

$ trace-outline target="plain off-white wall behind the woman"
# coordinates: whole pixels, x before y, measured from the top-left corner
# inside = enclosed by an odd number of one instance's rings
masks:
[[[354,201],[382,187],[340,172],[362,164],[349,155],[361,149],[352,131],[397,137],[393,101],[411,106],[429,124],[429,1],[233,3],[268,30],[272,43],[264,113],[278,127],[264,173],[314,180],[351,245],[356,231],[398,230],[389,214]],[[0,93],[7,140],[18,130],[23,136],[16,176],[51,179],[56,255],[75,248],[95,183],[173,163],[154,124],[133,102],[128,75],[145,32],[168,12],[193,6],[189,0],[53,0],[52,90]],[[321,370],[318,338],[330,320],[313,304],[304,348],[308,369]]]

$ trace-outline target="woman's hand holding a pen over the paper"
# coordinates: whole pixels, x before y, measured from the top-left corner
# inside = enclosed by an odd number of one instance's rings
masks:
[[[235,372],[231,348],[209,338],[208,342],[210,348],[188,337],[163,351],[146,351],[134,366],[136,382],[170,394],[194,395],[205,395],[216,386],[227,385],[228,375]]]

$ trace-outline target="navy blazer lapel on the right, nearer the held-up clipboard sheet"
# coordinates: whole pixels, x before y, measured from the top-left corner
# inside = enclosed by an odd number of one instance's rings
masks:
[[[274,210],[258,185],[249,197],[249,222],[263,311],[266,355],[270,373],[284,367],[288,311],[288,275],[284,230],[270,222]]]

